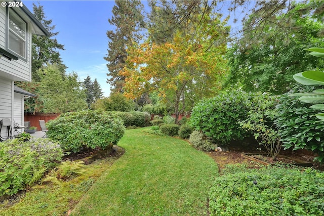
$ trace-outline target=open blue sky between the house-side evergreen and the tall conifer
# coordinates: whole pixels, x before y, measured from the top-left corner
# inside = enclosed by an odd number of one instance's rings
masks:
[[[110,94],[110,85],[106,83],[108,72],[107,61],[107,30],[114,29],[108,18],[112,16],[114,1],[38,1],[44,6],[47,19],[56,25],[54,31],[58,42],[65,47],[60,51],[61,58],[68,67],[66,72],[76,72],[80,81],[89,76],[97,78],[104,96]],[[32,12],[32,3],[23,1]]]

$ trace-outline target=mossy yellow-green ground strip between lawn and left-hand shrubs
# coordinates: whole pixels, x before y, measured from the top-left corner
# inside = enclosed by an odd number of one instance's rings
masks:
[[[102,173],[109,170],[111,164],[123,154],[124,150],[117,149],[115,157],[96,160],[86,165],[80,175],[53,181],[49,180],[52,173],[49,174],[42,180],[42,184],[31,187],[15,199],[0,202],[0,215],[67,215],[69,209],[74,208]]]

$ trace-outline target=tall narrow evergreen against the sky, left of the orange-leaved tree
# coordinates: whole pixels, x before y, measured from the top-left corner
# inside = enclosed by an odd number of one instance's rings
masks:
[[[109,38],[108,54],[104,59],[108,61],[107,83],[111,85],[112,92],[121,92],[125,77],[118,75],[118,72],[125,67],[127,59],[127,48],[133,42],[139,42],[142,38],[143,5],[140,1],[115,1],[112,8],[112,18],[108,19],[116,29],[107,31]]]

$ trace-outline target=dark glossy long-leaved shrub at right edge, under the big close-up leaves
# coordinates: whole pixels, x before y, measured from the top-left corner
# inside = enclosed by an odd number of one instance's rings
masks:
[[[309,108],[307,104],[290,97],[291,93],[312,92],[315,87],[296,85],[292,92],[279,97],[276,106],[275,124],[279,130],[285,149],[307,149],[318,154],[321,161],[324,158],[324,122],[319,122],[314,116],[318,111]]]

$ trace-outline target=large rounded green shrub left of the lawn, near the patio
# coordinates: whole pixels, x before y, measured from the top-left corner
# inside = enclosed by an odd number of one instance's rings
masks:
[[[123,137],[123,122],[101,110],[65,113],[47,123],[48,138],[59,141],[65,151],[112,148]]]

